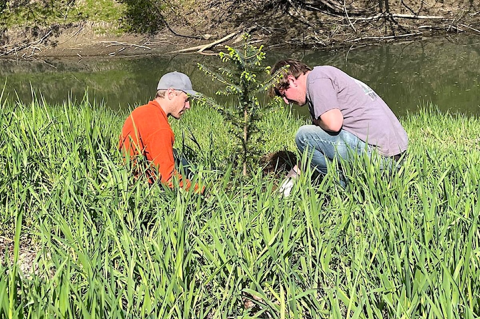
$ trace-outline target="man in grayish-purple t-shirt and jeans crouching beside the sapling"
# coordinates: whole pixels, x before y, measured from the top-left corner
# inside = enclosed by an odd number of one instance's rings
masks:
[[[285,68],[289,65],[287,68]],[[406,151],[406,132],[385,102],[365,83],[333,66],[316,66],[287,59],[279,61],[272,72],[283,77],[271,94],[285,103],[308,105],[313,125],[301,126],[295,136],[300,152],[308,150],[311,164],[327,173],[327,162],[338,158],[351,160],[353,153],[378,154],[398,160]],[[299,174],[295,166],[280,188],[288,196]],[[341,174],[340,174],[341,176]],[[345,181],[340,179],[340,184]]]

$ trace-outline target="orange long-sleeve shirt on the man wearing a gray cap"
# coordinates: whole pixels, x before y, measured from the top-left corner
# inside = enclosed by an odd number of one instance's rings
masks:
[[[182,186],[182,179],[175,170],[173,159],[174,141],[175,137],[165,112],[153,100],[135,108],[127,117],[121,130],[118,148],[130,158],[141,154],[156,169],[160,182],[171,187],[171,177],[175,174],[179,176]],[[145,174],[150,183],[158,178],[152,169],[147,169]],[[185,184],[187,188],[190,186],[187,179]]]

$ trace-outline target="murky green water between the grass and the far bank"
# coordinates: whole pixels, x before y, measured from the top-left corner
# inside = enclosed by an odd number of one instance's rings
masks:
[[[267,65],[293,57],[310,66],[336,66],[372,87],[397,115],[415,112],[431,102],[442,111],[480,115],[480,36],[378,43],[342,52],[265,51]],[[217,56],[48,58],[43,62],[0,59],[4,97],[29,102],[40,94],[49,103],[71,96],[127,108],[155,93],[159,77],[178,70],[190,76],[194,89],[213,96],[215,85],[196,63],[219,66]],[[296,111],[307,116],[306,107]]]

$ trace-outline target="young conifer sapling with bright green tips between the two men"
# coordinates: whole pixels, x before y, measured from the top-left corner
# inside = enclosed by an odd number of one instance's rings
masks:
[[[210,76],[212,81],[225,85],[217,95],[234,96],[238,103],[230,106],[221,106],[213,99],[202,97],[202,100],[213,106],[223,115],[226,122],[232,125],[231,133],[237,141],[236,153],[238,163],[242,165],[243,176],[246,176],[247,166],[258,161],[259,145],[262,136],[258,134],[259,120],[264,111],[275,105],[272,99],[267,105],[260,105],[257,95],[265,93],[277,80],[278,75],[269,76],[266,80],[260,79],[261,74],[270,74],[269,66],[263,66],[265,53],[263,46],[256,47],[249,42],[250,36],[243,36],[241,49],[226,46],[227,52],[220,52],[220,59],[225,66],[217,70],[198,63],[200,70]]]

